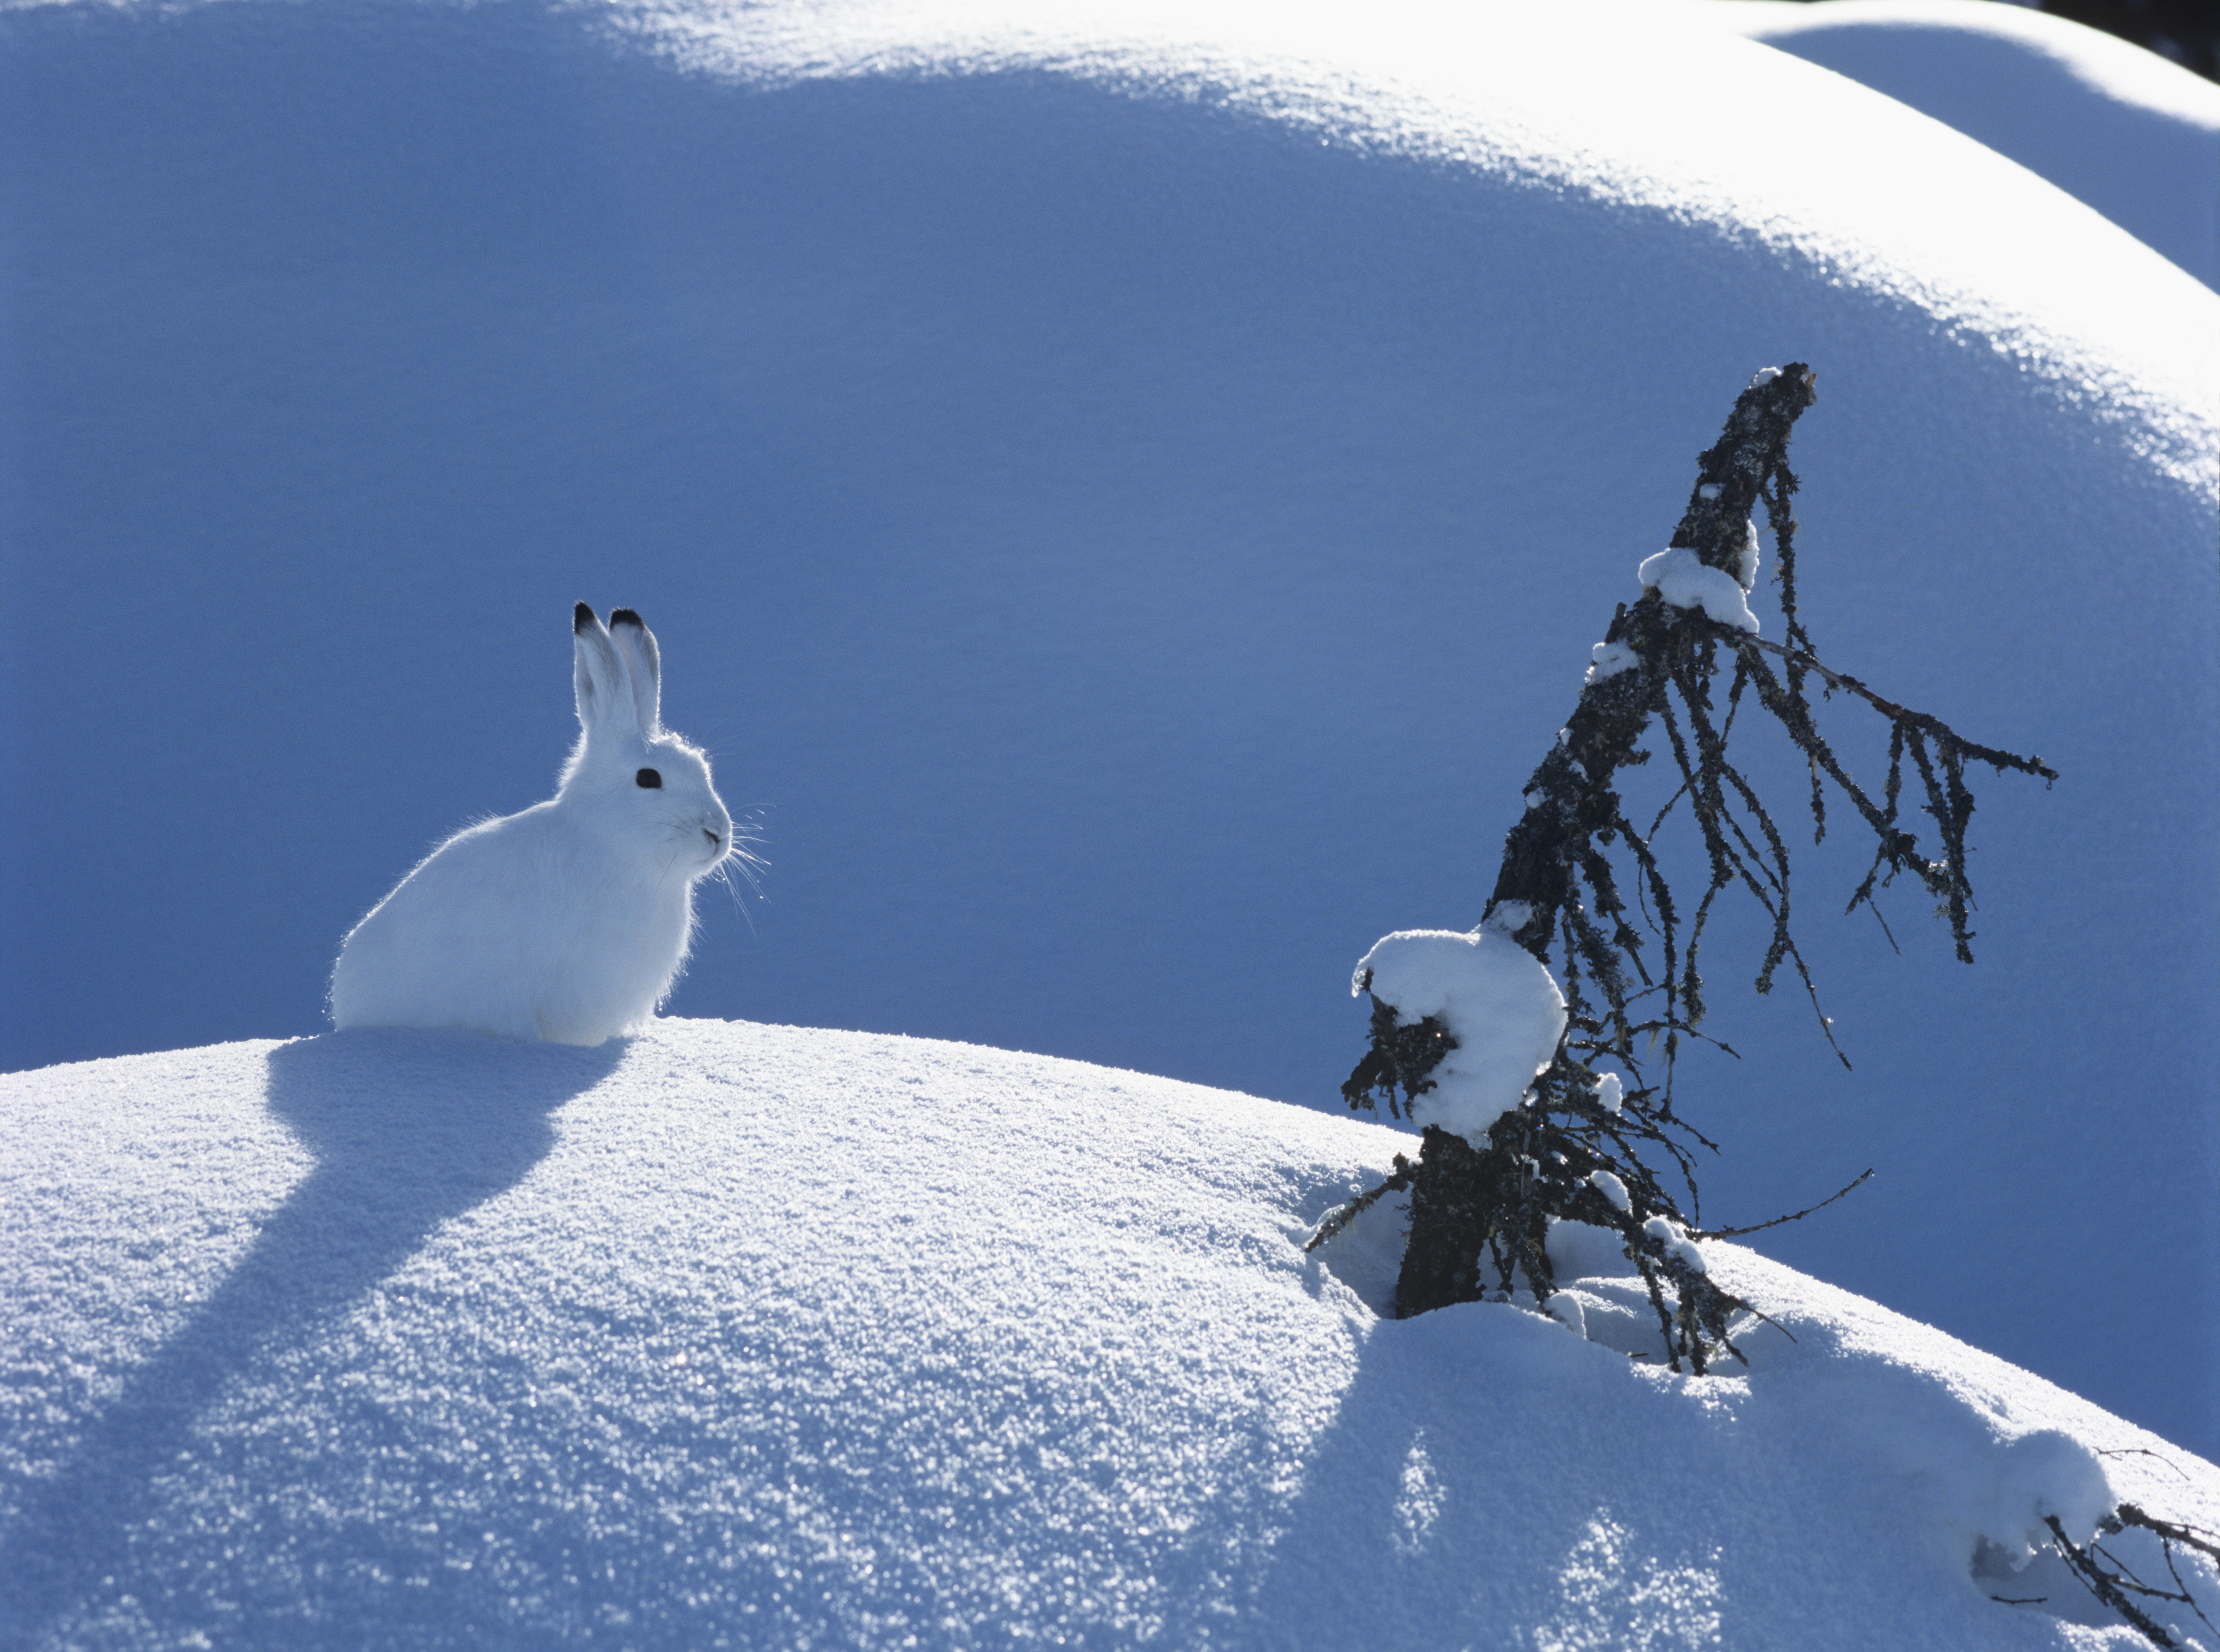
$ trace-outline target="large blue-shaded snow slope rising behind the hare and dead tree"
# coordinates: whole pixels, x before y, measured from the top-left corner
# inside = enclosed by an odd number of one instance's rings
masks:
[[[1876,1166],[1769,1252],[2216,1454],[2220,1075],[2122,1075],[2220,1037],[2220,298],[1667,13],[7,9],[0,1066],[317,1030],[593,600],[766,839],[677,1013],[1339,1108],[1785,360],[1823,657],[2062,779],[1982,782],[1974,970],[1798,839],[1856,1072],[1721,913],[1705,1219]]]

